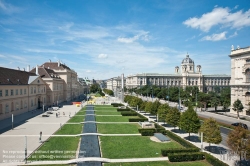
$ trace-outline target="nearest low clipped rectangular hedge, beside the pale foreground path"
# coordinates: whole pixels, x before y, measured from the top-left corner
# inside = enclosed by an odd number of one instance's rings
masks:
[[[171,162],[204,160],[205,154],[202,152],[193,153],[169,153],[168,159]]]

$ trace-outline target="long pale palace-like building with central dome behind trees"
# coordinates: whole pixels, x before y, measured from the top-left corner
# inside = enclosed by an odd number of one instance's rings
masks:
[[[230,75],[225,74],[202,74],[201,65],[195,66],[194,61],[189,55],[186,55],[186,58],[182,60],[181,66],[175,67],[174,74],[142,73],[129,75],[126,77],[126,87],[130,89],[145,85],[160,87],[180,86],[182,88],[197,86],[200,91],[208,92],[216,87],[229,87],[230,78]]]

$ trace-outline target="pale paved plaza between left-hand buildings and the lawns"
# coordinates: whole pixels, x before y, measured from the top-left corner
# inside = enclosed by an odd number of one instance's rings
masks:
[[[39,141],[40,132],[42,132],[42,141],[48,139],[60,128],[60,125],[66,123],[70,116],[72,117],[80,109],[75,105],[64,105],[58,111],[53,111],[49,117],[37,115],[15,127],[14,130],[2,133],[0,135],[0,165],[22,162],[25,158],[25,136],[27,136],[27,155],[29,156],[42,144]],[[60,113],[59,117],[56,117],[56,112]]]

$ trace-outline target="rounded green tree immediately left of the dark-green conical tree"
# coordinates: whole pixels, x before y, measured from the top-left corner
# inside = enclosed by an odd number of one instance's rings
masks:
[[[175,128],[179,124],[180,117],[181,113],[176,107],[170,108],[166,116],[166,122]]]

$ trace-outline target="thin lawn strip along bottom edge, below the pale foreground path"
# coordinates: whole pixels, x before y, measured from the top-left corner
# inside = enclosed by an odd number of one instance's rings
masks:
[[[151,161],[151,162],[135,162],[135,163],[106,163],[104,166],[210,166],[206,161],[190,161],[190,162],[174,162],[169,161]]]

